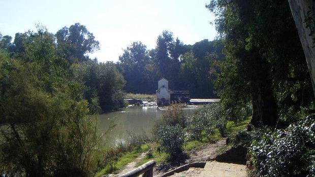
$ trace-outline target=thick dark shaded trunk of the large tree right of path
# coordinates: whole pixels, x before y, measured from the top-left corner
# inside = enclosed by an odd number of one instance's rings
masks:
[[[275,128],[278,122],[277,104],[271,86],[271,65],[264,59],[258,48],[253,48],[248,56],[251,103],[253,114],[250,124],[255,127],[267,125]]]

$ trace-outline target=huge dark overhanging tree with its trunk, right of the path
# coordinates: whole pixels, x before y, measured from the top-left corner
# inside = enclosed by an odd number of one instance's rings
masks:
[[[247,91],[253,104],[255,126],[269,125],[275,127],[278,120],[277,102],[274,91],[282,88],[279,82],[304,83],[305,63],[301,62],[301,46],[293,36],[296,31],[291,18],[289,6],[279,1],[211,1],[207,6],[215,15],[216,28],[224,39],[227,62],[231,70],[222,69],[219,87],[223,88],[220,96],[229,100],[229,92]],[[274,25],[277,22],[277,25]],[[290,46],[290,45],[291,46]],[[292,46],[294,45],[294,46]],[[290,50],[289,50],[290,48]],[[295,62],[299,67],[295,67]],[[284,71],[280,73],[280,71]],[[290,72],[295,73],[290,76]],[[299,76],[299,77],[296,77]],[[231,78],[238,78],[232,80]],[[225,78],[225,79],[224,79]],[[228,85],[226,81],[235,81]],[[241,82],[239,82],[241,81]],[[275,81],[275,82],[273,82]],[[239,83],[236,83],[239,82]],[[233,88],[235,86],[235,88]],[[306,90],[306,85],[300,85],[299,90]],[[240,88],[243,87],[243,88]],[[224,94],[226,88],[227,94]],[[286,89],[295,94],[294,89]],[[233,95],[237,95],[236,93]],[[236,97],[234,97],[236,98]],[[236,99],[246,100],[247,96]],[[237,101],[237,100],[235,100]],[[233,102],[231,99],[229,102]]]

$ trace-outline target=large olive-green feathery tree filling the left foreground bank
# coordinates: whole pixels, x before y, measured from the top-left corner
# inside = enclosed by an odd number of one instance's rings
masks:
[[[0,166],[25,176],[91,176],[100,136],[82,85],[69,77],[43,28],[25,43],[28,59],[0,52]]]

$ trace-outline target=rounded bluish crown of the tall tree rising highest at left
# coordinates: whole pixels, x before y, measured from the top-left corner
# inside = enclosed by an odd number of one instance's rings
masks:
[[[64,55],[69,63],[87,61],[89,59],[87,54],[100,48],[93,33],[80,23],[75,23],[69,28],[65,26],[59,29],[55,37],[58,52]]]

